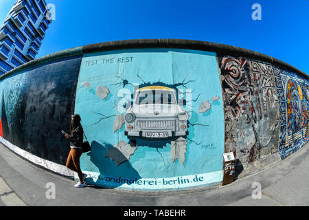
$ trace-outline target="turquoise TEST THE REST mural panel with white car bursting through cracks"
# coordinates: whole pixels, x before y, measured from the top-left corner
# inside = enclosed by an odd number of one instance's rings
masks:
[[[222,109],[214,53],[159,48],[84,55],[75,113],[91,152],[82,155],[82,170],[91,176],[88,181],[114,188],[217,184]],[[194,181],[196,175],[203,181]],[[131,184],[106,181],[120,177]],[[151,181],[155,184],[145,184]]]

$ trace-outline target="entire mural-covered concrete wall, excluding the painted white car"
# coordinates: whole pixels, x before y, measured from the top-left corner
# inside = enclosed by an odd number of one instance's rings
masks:
[[[176,92],[189,115],[188,133],[137,138],[131,146],[124,115],[135,91],[150,86]],[[70,115],[78,113],[92,149],[80,158],[89,184],[128,190],[220,184],[222,153],[234,153],[241,177],[304,146],[307,88],[306,74],[294,67],[227,45],[164,39],[87,45],[0,77],[0,141],[73,176],[60,131],[69,133]]]

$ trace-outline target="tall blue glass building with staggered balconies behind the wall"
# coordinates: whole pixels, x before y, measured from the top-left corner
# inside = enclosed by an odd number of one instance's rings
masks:
[[[51,23],[45,0],[14,3],[0,28],[0,75],[32,61]]]

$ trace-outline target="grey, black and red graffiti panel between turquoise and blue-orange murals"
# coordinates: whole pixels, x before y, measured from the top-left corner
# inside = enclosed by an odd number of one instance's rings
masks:
[[[242,57],[217,56],[225,111],[225,151],[241,162],[275,153],[279,138],[273,67]]]

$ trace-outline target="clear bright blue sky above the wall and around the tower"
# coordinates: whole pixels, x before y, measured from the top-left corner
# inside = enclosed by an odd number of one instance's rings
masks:
[[[0,0],[0,21],[15,1]],[[309,74],[308,0],[47,0],[56,6],[38,57],[126,39],[192,39],[244,47]],[[260,3],[262,20],[251,6]]]

